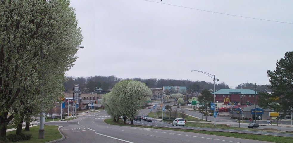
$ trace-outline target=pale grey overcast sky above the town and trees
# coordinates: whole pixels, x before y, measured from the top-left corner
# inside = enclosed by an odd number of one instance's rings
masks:
[[[152,1],[71,0],[85,48],[67,76],[213,82],[190,72],[200,70],[232,88],[263,85],[267,70],[292,51],[293,1]]]

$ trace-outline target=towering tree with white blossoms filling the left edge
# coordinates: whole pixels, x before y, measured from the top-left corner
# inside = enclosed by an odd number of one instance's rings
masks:
[[[68,0],[1,0],[0,25],[3,139],[12,119],[21,122],[20,114],[39,114],[59,100],[65,71],[73,66],[82,36]],[[31,114],[28,109],[33,109]]]

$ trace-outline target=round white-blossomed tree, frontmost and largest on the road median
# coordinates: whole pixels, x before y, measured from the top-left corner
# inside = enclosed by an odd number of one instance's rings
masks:
[[[133,124],[133,119],[148,98],[152,96],[151,89],[140,81],[124,80],[117,83],[112,89],[113,95],[117,96],[118,110],[122,116],[126,116]],[[124,123],[126,119],[124,118]]]

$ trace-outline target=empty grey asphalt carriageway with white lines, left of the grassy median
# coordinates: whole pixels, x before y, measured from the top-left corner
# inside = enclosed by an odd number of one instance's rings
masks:
[[[109,125],[104,122],[105,118],[109,118],[106,111],[99,111],[98,113],[79,116],[77,119],[68,122],[46,124],[63,125],[61,132],[66,136],[66,139],[61,143],[266,143],[199,133]]]

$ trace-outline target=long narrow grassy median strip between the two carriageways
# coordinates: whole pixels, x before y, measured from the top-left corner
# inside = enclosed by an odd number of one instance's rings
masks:
[[[210,135],[216,135],[216,136],[227,136],[227,137],[252,139],[252,140],[259,140],[259,141],[266,141],[266,142],[276,142],[276,143],[289,143],[289,142],[292,142],[293,140],[293,138],[281,137],[281,136],[267,136],[267,135],[256,135],[256,134],[247,134],[247,133],[245,134],[244,133],[227,133],[227,132],[216,132],[216,131],[198,131],[198,130],[187,130],[187,129],[176,129],[176,128],[159,128],[159,127],[152,127],[152,126],[128,125],[128,124],[123,124],[121,122],[119,123],[113,122],[113,119],[106,119],[105,122],[111,125],[154,128],[154,129],[172,130],[172,131],[184,131],[184,132],[191,132],[191,133],[202,133],[202,134],[210,134]]]

